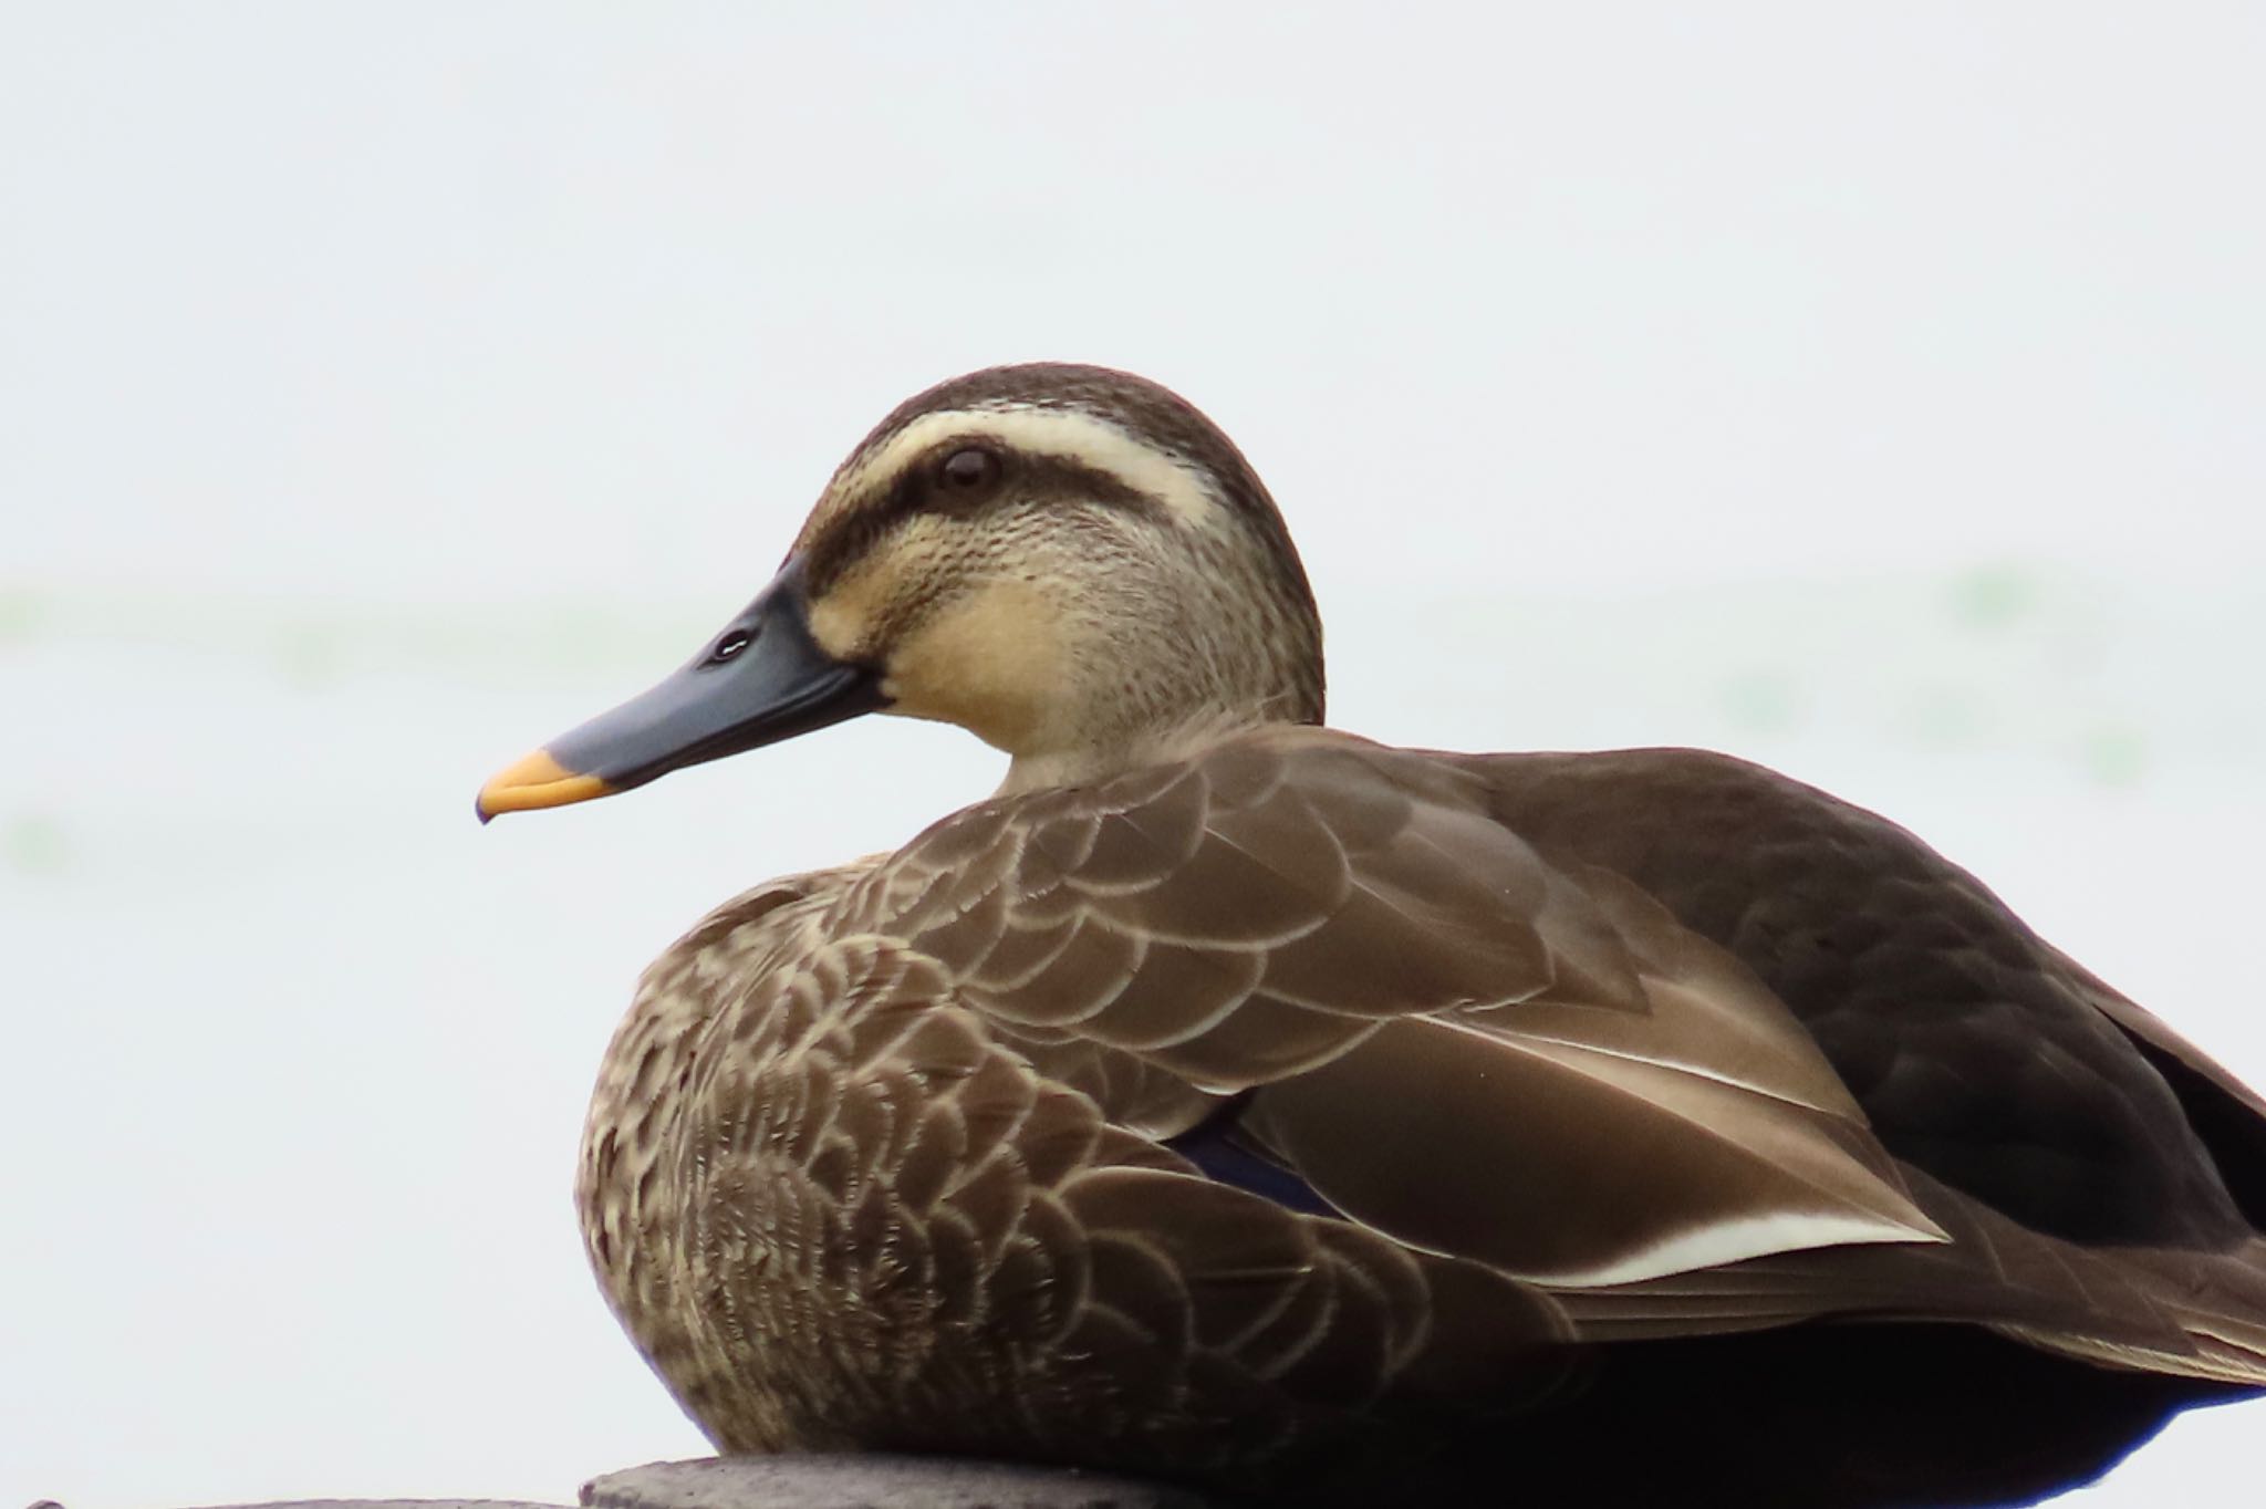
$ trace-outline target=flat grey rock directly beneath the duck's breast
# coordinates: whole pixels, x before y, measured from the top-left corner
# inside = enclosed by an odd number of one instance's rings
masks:
[[[956,1457],[702,1457],[582,1484],[585,1509],[1230,1509],[1194,1489]]]

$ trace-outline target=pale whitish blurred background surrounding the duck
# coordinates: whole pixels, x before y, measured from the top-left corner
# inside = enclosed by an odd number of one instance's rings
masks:
[[[0,1502],[700,1448],[569,1212],[625,990],[997,757],[471,793],[995,360],[1228,426],[1341,725],[1783,766],[2266,1081],[2261,18],[0,7]]]

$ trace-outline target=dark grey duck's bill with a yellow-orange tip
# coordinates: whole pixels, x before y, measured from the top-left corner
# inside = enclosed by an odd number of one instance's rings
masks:
[[[682,671],[499,770],[476,807],[487,822],[499,811],[587,802],[886,705],[877,671],[838,662],[811,639],[802,569],[789,562]]]

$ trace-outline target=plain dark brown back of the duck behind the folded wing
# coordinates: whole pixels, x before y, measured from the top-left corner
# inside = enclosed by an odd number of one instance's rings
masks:
[[[1700,750],[1462,764],[1523,838],[1754,970],[1899,1160],[2069,1242],[2257,1235],[2257,1097],[1906,829]]]

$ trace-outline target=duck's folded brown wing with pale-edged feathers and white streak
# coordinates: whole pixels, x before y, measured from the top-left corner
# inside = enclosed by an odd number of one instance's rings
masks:
[[[1752,970],[1622,872],[1539,850],[1486,779],[1344,734],[1253,732],[959,813],[852,886],[836,922],[934,958],[995,1035],[1117,1126],[1169,1140],[1240,1097],[1233,1135],[1348,1217],[1301,1242],[1332,1230],[1448,1264],[1339,1278],[1400,1316],[1330,1341],[1346,1378],[1378,1355],[1416,1366],[1398,1289],[1439,1298],[1493,1273],[1520,1307],[1554,1296],[1584,1341],[1967,1319],[2266,1380],[2266,1296],[2241,1260],[2105,1260],[1899,1165]],[[1185,1203],[1194,1167],[1169,1167]],[[1110,1203],[1081,1219],[1196,1239]],[[1289,1251],[1149,1258],[1221,1291],[1269,1276],[1233,1348],[1271,1373],[1321,1346]],[[1192,1335],[1228,1344],[1203,1296],[1192,1314]]]

